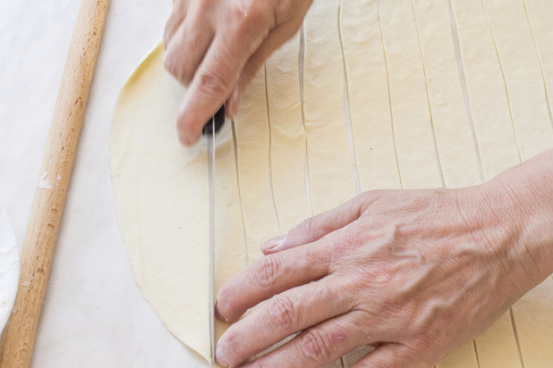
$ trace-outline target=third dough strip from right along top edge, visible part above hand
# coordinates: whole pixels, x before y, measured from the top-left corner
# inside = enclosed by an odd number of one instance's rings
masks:
[[[484,178],[520,163],[496,46],[480,0],[451,0]]]

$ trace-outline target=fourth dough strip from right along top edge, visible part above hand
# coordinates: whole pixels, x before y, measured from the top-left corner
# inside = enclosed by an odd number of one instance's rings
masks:
[[[446,1],[412,0],[430,113],[447,188],[481,183],[480,162],[464,105]]]

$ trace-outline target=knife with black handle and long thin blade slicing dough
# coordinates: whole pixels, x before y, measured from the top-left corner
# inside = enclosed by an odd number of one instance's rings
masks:
[[[206,123],[202,134],[208,138],[209,180],[209,344],[211,367],[215,367],[215,136],[225,123],[225,105]]]

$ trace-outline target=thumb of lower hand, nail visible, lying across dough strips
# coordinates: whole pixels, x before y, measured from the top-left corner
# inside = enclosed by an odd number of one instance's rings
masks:
[[[371,200],[370,194],[367,193],[354,197],[344,205],[340,205],[326,213],[313,216],[301,222],[288,234],[268,240],[261,245],[261,251],[265,255],[270,255],[317,241],[359,219],[370,205]]]

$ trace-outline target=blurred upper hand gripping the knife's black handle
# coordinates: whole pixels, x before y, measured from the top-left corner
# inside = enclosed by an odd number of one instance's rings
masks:
[[[312,0],[174,0],[165,66],[190,87],[177,114],[183,145],[195,143],[226,101],[236,113],[243,90],[269,54],[300,28]]]

